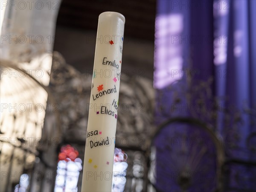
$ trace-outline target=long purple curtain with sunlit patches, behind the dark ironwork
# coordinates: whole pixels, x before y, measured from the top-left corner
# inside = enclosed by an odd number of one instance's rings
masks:
[[[215,114],[197,117],[214,125],[213,130],[224,142],[226,161],[237,163],[226,166],[226,190],[255,189],[251,178],[256,177],[256,1],[157,0],[155,28],[156,124],[175,117],[195,117],[195,113]],[[197,90],[200,82],[209,81],[212,83],[205,83],[205,88],[202,83],[203,88]],[[194,110],[198,101],[188,101],[187,93],[198,94],[199,98],[203,92],[204,106],[212,105],[215,99],[217,109]],[[207,98],[207,94],[213,99]],[[189,125],[169,125],[168,129],[179,126],[186,134],[195,131]],[[157,148],[163,146],[161,141],[168,134],[170,138],[175,135],[163,128],[155,140]],[[176,145],[171,146],[172,150],[175,147],[177,150]],[[169,188],[163,187],[163,180],[173,178],[164,174],[166,170],[161,164],[172,162],[163,160],[163,153],[157,155],[156,186],[163,191],[179,191],[172,182]],[[186,190],[196,191],[191,184]]]

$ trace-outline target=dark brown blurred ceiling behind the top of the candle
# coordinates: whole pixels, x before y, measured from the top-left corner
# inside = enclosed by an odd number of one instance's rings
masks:
[[[99,14],[125,16],[125,35],[154,41],[156,0],[62,0],[57,26],[97,30]]]

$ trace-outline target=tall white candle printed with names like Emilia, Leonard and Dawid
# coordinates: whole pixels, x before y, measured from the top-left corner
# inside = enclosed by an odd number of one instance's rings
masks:
[[[81,192],[110,192],[125,17],[99,15]]]

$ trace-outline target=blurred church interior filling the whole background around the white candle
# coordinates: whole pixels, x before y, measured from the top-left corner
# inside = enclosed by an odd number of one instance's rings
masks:
[[[126,20],[112,191],[255,191],[255,0],[3,0],[0,192],[81,191],[105,11]]]

